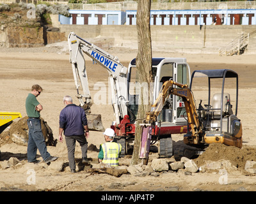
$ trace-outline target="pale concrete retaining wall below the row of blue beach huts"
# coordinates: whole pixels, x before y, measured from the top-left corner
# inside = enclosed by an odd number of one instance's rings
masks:
[[[138,48],[136,25],[60,25],[61,32],[74,31],[84,40],[109,38],[115,47]],[[218,53],[242,32],[251,33],[256,25],[151,25],[152,50]],[[256,34],[250,37],[246,49],[248,54],[256,54]]]

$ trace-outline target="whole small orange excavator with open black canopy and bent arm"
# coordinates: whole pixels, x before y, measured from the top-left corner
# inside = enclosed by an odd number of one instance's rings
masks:
[[[196,77],[206,77],[208,84],[208,103],[205,108],[202,106],[202,99],[198,108],[195,105],[193,92],[191,91],[193,79]],[[211,99],[211,82],[216,79],[222,80],[221,92],[213,94]],[[235,78],[236,80],[236,111],[233,113],[232,105],[230,103],[230,94],[224,92],[225,79]],[[220,84],[219,84],[220,85]],[[234,89],[234,87],[232,87]],[[149,147],[148,138],[150,138],[154,126],[157,122],[159,113],[161,112],[166,99],[170,96],[176,95],[182,98],[186,108],[186,117],[188,119],[188,133],[184,135],[184,143],[187,146],[196,147],[198,149],[183,148],[182,152],[175,154],[179,157],[185,156],[182,153],[200,152],[205,149],[209,143],[223,143],[225,145],[242,147],[242,124],[241,120],[237,118],[237,101],[238,101],[238,75],[235,71],[230,69],[211,69],[211,70],[197,70],[191,75],[190,87],[187,84],[180,84],[168,80],[164,82],[159,96],[152,105],[152,110],[147,112],[147,119],[142,127],[140,158],[147,159]],[[211,99],[211,101],[210,101]],[[202,151],[201,151],[202,152]],[[188,154],[187,154],[188,155]],[[190,154],[193,156],[193,154]],[[188,156],[187,156],[188,157]],[[175,159],[176,159],[175,158]],[[176,159],[176,160],[177,160]]]

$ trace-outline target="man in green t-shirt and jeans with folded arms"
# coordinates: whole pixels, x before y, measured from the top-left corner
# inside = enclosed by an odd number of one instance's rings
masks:
[[[39,150],[45,163],[49,163],[57,159],[52,157],[47,152],[45,145],[44,135],[41,129],[40,112],[43,110],[43,106],[37,101],[36,97],[43,91],[42,87],[35,84],[31,88],[31,92],[26,98],[26,112],[29,117],[28,119],[28,162],[38,163],[36,160],[36,152]]]

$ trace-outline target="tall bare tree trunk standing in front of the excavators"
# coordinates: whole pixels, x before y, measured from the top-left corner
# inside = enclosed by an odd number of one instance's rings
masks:
[[[134,138],[134,149],[132,153],[131,164],[139,164],[140,144],[141,144],[141,127],[140,123],[145,119],[146,112],[150,110],[150,94],[148,98],[143,98],[147,91],[150,93],[150,82],[152,82],[152,47],[151,47],[151,33],[150,33],[150,6],[151,0],[139,0],[137,9],[137,32],[138,32],[138,55],[136,57],[136,68],[138,75],[138,82],[141,85],[140,99],[138,107],[138,116],[136,120],[136,130]],[[143,85],[142,85],[143,84]]]

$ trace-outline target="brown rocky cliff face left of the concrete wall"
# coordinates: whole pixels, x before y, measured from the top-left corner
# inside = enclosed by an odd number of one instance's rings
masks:
[[[67,40],[65,33],[51,29],[51,18],[45,25],[45,18],[28,18],[28,12],[19,5],[6,10],[0,7],[0,47],[42,47]]]

